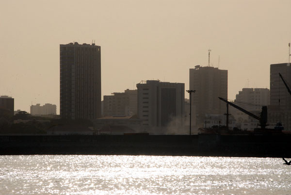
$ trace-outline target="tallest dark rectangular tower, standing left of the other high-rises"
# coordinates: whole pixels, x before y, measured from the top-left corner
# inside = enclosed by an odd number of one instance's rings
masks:
[[[62,118],[101,117],[100,46],[60,45],[60,115]]]

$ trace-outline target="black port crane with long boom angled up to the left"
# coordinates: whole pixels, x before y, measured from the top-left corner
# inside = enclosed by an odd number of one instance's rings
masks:
[[[262,106],[262,111],[260,112],[260,115],[257,116],[257,115],[255,115],[255,114],[250,113],[250,112],[244,110],[243,108],[241,108],[241,107],[235,105],[234,103],[231,103],[230,101],[227,101],[225,98],[222,98],[222,97],[218,97],[218,98],[219,98],[220,100],[226,102],[227,107],[228,107],[228,104],[229,104],[229,105],[231,105],[232,107],[234,107],[234,108],[236,108],[236,109],[242,111],[243,113],[245,113],[245,114],[247,114],[247,115],[249,115],[249,116],[251,116],[251,117],[253,117],[253,118],[257,119],[257,120],[259,120],[259,126],[261,127],[261,129],[265,129],[265,128],[266,128],[266,126],[267,126],[267,118],[268,118],[267,106]],[[228,109],[227,109],[227,114],[226,114],[226,116],[228,117],[228,115],[229,115],[229,114],[228,114]],[[228,121],[228,120],[226,120],[226,121]],[[226,122],[226,123],[227,123],[227,122]],[[228,124],[226,124],[226,125],[228,126]]]

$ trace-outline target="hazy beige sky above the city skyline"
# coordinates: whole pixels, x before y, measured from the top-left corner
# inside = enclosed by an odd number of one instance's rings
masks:
[[[15,110],[52,103],[59,113],[60,44],[95,40],[102,99],[146,80],[186,90],[208,49],[235,99],[245,87],[270,88],[270,65],[288,62],[290,8],[291,0],[0,0],[0,95]]]

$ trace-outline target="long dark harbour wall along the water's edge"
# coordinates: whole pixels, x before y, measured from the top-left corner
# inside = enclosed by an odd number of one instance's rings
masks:
[[[97,154],[291,158],[291,135],[0,136],[0,155]]]

